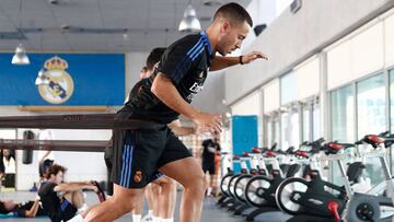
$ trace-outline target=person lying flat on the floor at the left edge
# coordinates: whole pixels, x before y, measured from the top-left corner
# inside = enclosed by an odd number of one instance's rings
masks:
[[[12,200],[0,200],[0,214],[12,213],[20,218],[34,218],[36,215],[46,215],[44,209],[39,206],[39,197],[34,201],[15,203]]]

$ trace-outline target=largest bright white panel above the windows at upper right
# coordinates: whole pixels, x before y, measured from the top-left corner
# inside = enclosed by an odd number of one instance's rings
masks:
[[[328,90],[344,85],[384,67],[384,30],[382,21],[372,21],[349,34],[327,51]],[[390,39],[387,39],[390,42]]]

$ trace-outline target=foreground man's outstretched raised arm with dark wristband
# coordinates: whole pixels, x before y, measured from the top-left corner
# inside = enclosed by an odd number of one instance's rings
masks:
[[[215,57],[209,70],[210,71],[217,71],[221,69],[225,69],[235,65],[245,65],[250,63],[258,58],[268,60],[268,57],[259,51],[252,51],[250,54],[246,54],[244,56],[236,56],[236,57],[223,57],[223,56],[217,56]]]

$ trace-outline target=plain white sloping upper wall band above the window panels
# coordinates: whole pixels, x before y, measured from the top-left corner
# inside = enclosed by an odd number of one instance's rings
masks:
[[[228,70],[227,103],[232,104],[267,81],[283,74],[360,26],[366,19],[378,16],[393,4],[394,1],[390,0],[309,0],[302,1],[302,8],[296,14],[286,10],[245,50],[262,50],[268,55],[269,60]],[[234,87],[237,90],[228,90]]]

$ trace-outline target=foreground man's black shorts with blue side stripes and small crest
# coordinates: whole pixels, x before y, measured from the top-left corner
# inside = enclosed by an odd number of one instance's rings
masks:
[[[162,174],[158,170],[192,156],[187,148],[162,125],[158,129],[114,130],[112,182],[126,188],[142,188]]]

